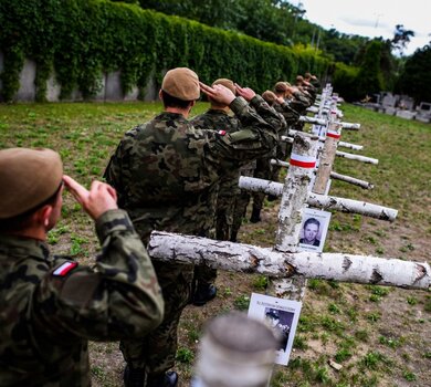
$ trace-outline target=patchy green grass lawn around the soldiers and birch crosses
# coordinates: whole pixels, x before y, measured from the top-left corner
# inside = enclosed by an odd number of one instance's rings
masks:
[[[208,107],[199,103],[193,114]],[[50,147],[63,157],[65,174],[90,186],[99,179],[123,134],[161,111],[159,103],[0,104],[0,148]],[[353,151],[379,165],[336,159],[334,170],[375,185],[362,190],[333,181],[330,195],[364,200],[399,211],[389,223],[364,216],[333,213],[325,251],[430,262],[431,125],[344,105],[341,140],[364,145]],[[278,202],[265,202],[263,221],[246,220],[240,240],[272,245]],[[84,263],[97,250],[92,221],[70,195],[49,242],[56,253]],[[220,272],[218,297],[207,306],[187,307],[180,326],[177,369],[187,386],[204,322],[248,306],[250,293],[264,292],[265,279]],[[430,386],[431,295],[371,285],[309,280],[287,367],[277,366],[272,386]],[[343,365],[336,372],[328,360]],[[122,386],[123,363],[116,344],[92,344],[96,386]]]

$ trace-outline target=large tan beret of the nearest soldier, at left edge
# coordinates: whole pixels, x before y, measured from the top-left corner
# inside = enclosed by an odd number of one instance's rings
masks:
[[[0,150],[0,219],[12,218],[43,203],[63,178],[60,155],[51,149]]]

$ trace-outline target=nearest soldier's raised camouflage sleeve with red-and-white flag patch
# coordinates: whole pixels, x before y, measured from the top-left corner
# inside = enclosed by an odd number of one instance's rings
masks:
[[[96,221],[102,254],[95,266],[59,262],[42,280],[33,322],[52,334],[88,339],[144,336],[160,324],[164,301],[151,261],[123,210]]]

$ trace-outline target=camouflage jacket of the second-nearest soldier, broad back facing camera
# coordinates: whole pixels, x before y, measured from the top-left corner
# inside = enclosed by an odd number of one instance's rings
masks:
[[[260,106],[256,114],[236,97],[230,108],[242,129],[233,133],[198,129],[168,112],[126,133],[104,176],[144,241],[153,230],[207,234],[223,171],[267,154],[277,142],[280,127],[264,121],[273,113],[265,102]]]

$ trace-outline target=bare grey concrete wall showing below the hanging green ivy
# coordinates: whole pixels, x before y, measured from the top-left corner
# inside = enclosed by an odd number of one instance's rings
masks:
[[[0,73],[3,71],[3,54],[0,51]],[[36,74],[36,64],[31,60],[25,60],[24,66],[20,73],[20,88],[14,96],[15,101],[21,102],[34,102],[35,85],[34,79]],[[95,95],[93,101],[136,101],[138,97],[138,88],[133,87],[132,92],[123,95],[120,72],[106,73],[102,75],[101,90]],[[0,94],[2,84],[0,81]],[[46,100],[50,102],[59,102],[61,86],[55,80],[55,74],[51,74],[46,82]],[[82,94],[76,90],[72,92],[71,97],[67,101],[82,101]],[[158,100],[158,88],[155,81],[150,77],[145,88],[145,101]]]

